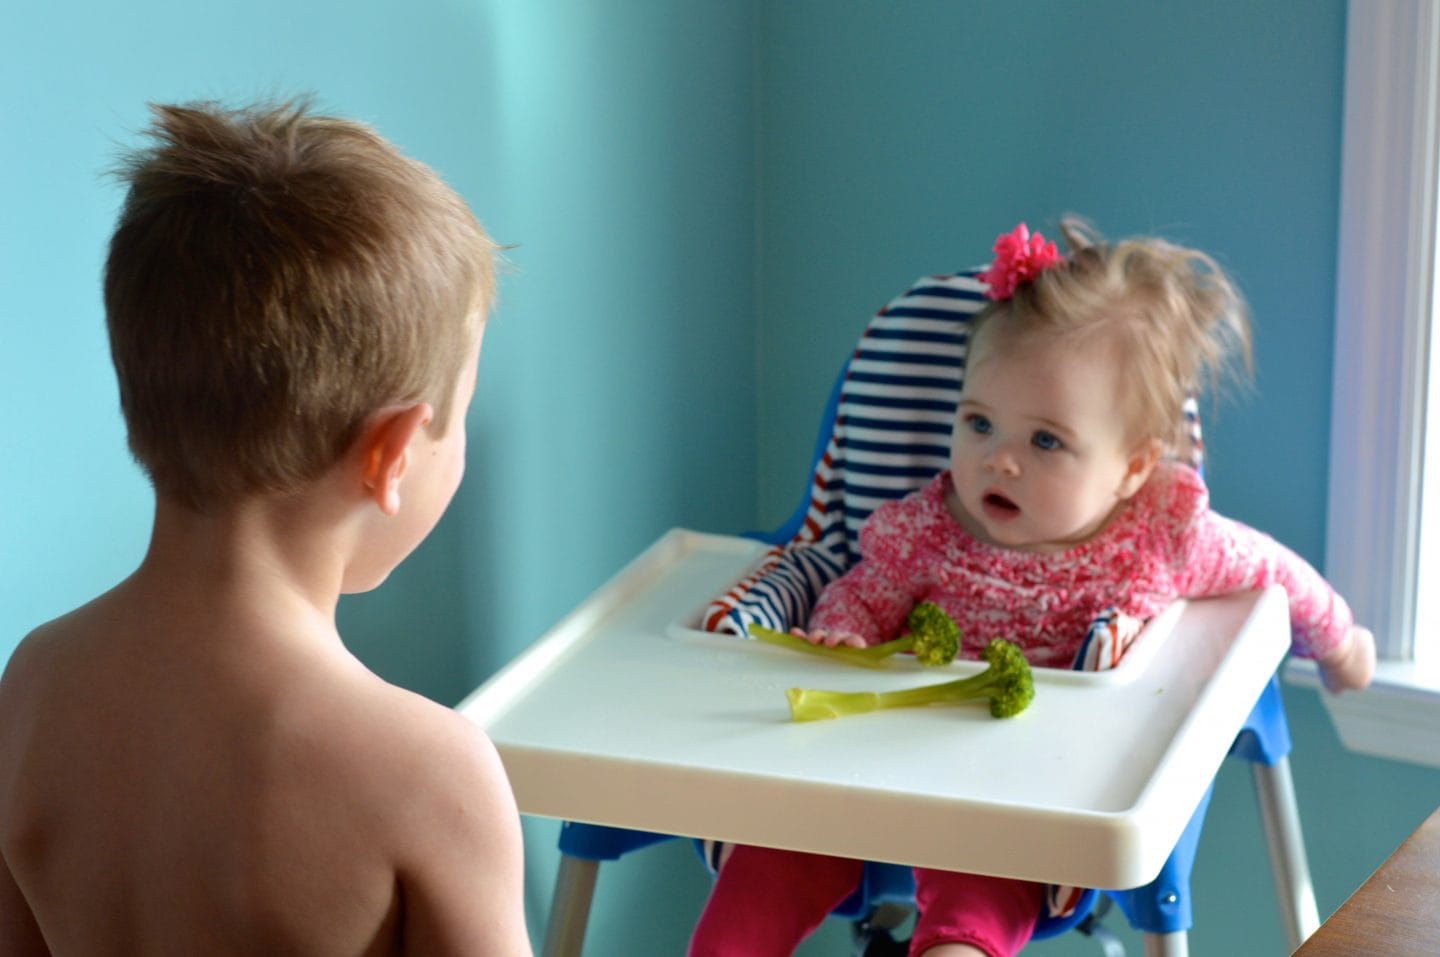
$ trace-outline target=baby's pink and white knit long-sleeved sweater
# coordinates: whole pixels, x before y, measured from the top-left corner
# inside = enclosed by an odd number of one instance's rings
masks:
[[[976,658],[1008,638],[1032,665],[1068,668],[1106,607],[1148,619],[1175,599],[1282,584],[1290,596],[1292,652],[1323,658],[1344,640],[1351,610],[1315,568],[1269,535],[1217,515],[1201,478],[1162,465],[1110,525],[1058,554],[976,541],[945,507],[949,472],[881,505],[860,531],[861,560],[821,594],[809,627],[894,638],[917,602],[935,602]]]

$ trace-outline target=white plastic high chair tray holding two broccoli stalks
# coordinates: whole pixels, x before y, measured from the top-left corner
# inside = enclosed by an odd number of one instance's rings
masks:
[[[765,553],[674,530],[480,686],[527,815],[1068,884],[1149,882],[1290,645],[1280,589],[1179,602],[1102,673],[1035,699],[789,720],[792,686],[973,673],[863,669],[697,630]]]

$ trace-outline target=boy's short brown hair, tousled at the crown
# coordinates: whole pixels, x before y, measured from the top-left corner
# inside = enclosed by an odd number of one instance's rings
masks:
[[[105,265],[130,448],[196,509],[292,492],[380,409],[441,430],[495,246],[428,167],[304,102],[153,106]]]

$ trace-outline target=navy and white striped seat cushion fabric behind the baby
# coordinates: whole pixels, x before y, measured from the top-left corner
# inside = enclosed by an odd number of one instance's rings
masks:
[[[949,466],[971,319],[988,301],[982,271],[922,278],[870,321],[845,367],[804,521],[706,609],[707,630],[804,626],[821,590],[860,557],[860,527],[870,512]],[[1185,419],[1188,458],[1200,468],[1194,402]]]

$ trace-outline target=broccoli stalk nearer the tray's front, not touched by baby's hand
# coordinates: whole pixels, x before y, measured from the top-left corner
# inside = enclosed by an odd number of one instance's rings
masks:
[[[881,708],[914,708],[935,704],[959,704],[979,698],[989,699],[991,715],[1012,718],[1035,698],[1035,682],[1030,662],[1020,649],[1004,639],[994,639],[981,656],[989,668],[978,675],[922,685],[903,691],[816,691],[791,688],[785,697],[791,702],[792,721],[819,721],[865,714]]]

